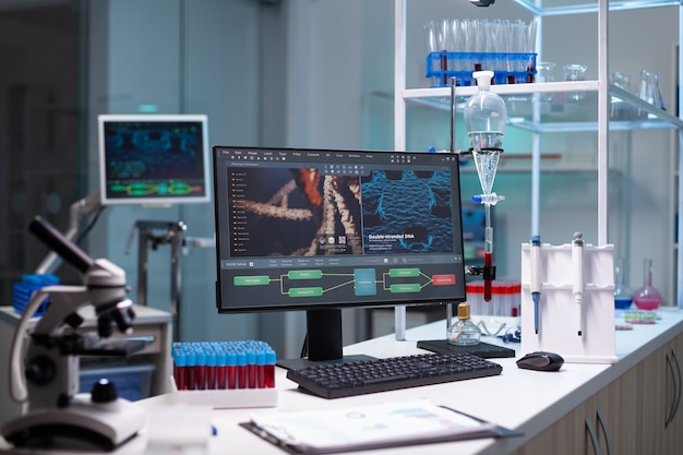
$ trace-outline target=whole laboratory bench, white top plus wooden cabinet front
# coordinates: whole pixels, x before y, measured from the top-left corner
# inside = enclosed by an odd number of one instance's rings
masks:
[[[567,363],[559,372],[517,368],[519,344],[486,336],[483,340],[512,347],[515,358],[492,359],[503,367],[500,375],[416,388],[323,399],[297,391],[284,369],[276,369],[276,407],[214,409],[208,453],[285,452],[238,426],[250,416],[265,412],[347,408],[372,404],[427,398],[507,429],[523,436],[481,439],[451,443],[357,452],[363,454],[527,455],[527,454],[651,454],[683,453],[683,411],[679,409],[681,360],[683,360],[683,312],[660,310],[651,325],[616,331],[616,357],[612,364]],[[477,316],[472,318],[475,321]],[[480,319],[479,319],[480,320]],[[500,319],[508,326],[513,319]],[[619,314],[616,323],[620,323]],[[420,339],[445,337],[445,322],[438,321],[406,332],[406,340],[386,335],[345,347],[345,355],[394,357],[424,352]],[[562,354],[562,352],[560,352]],[[140,403],[149,415],[173,406],[172,394]],[[145,430],[116,453],[145,453]],[[0,442],[0,453],[26,453]],[[36,453],[36,452],[32,452]]]

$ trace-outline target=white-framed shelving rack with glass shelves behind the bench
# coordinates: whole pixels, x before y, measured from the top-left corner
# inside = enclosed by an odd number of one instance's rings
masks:
[[[590,137],[577,136],[577,140],[594,141],[596,151],[597,169],[597,244],[608,243],[608,218],[610,213],[608,209],[608,187],[610,180],[614,177],[610,160],[627,159],[624,155],[618,155],[615,148],[610,149],[610,141],[614,139],[619,146],[632,146],[632,132],[659,130],[661,132],[676,132],[678,139],[671,135],[674,146],[672,156],[658,154],[657,159],[669,159],[671,163],[671,173],[668,176],[670,181],[661,181],[668,184],[668,191],[674,193],[670,203],[671,215],[664,220],[670,227],[670,232],[666,234],[667,238],[678,239],[683,236],[683,225],[678,223],[678,214],[683,212],[683,184],[678,181],[679,176],[683,173],[683,161],[678,159],[680,147],[683,146],[683,116],[675,115],[674,106],[667,106],[670,110],[663,110],[654,105],[638,98],[636,95],[628,93],[618,86],[609,83],[610,74],[608,68],[608,56],[610,46],[608,46],[608,22],[611,12],[615,11],[639,11],[648,9],[659,9],[662,7],[672,8],[671,15],[679,17],[679,43],[683,43],[683,0],[510,0],[519,8],[526,10],[535,16],[535,21],[539,23],[539,29],[542,29],[543,19],[547,16],[572,16],[578,14],[595,14],[597,19],[597,40],[596,51],[598,56],[597,79],[589,81],[561,81],[549,83],[526,83],[526,84],[508,84],[493,85],[491,91],[504,98],[508,105],[508,127],[514,130],[523,130],[530,133],[530,168],[519,169],[520,172],[531,172],[531,232],[540,230],[540,178],[543,172],[553,172],[554,169],[547,169],[541,165],[542,154],[541,136],[547,133],[590,133]],[[394,146],[396,149],[405,149],[406,130],[407,130],[407,108],[426,107],[431,109],[443,110],[451,113],[452,95],[455,95],[456,123],[462,119],[462,108],[464,100],[475,95],[478,91],[476,86],[455,87],[452,94],[451,87],[408,87],[407,79],[407,8],[408,0],[395,0],[395,52],[394,52]],[[619,17],[619,16],[618,16]],[[548,32],[548,31],[547,31]],[[551,31],[552,33],[552,31]],[[542,34],[539,34],[542,36]],[[537,46],[537,52],[542,55],[542,43]],[[618,43],[619,45],[619,43]],[[678,50],[678,71],[679,83],[683,77],[683,48]],[[568,94],[572,92],[584,92],[586,94],[583,100],[578,103],[568,96],[554,97],[550,103],[543,103],[539,94]],[[683,105],[683,94],[678,96],[679,105]],[[525,99],[526,98],[526,99]],[[564,99],[562,99],[564,98]],[[621,109],[621,106],[624,108]],[[512,109],[510,108],[512,107]],[[431,117],[426,117],[431,119]],[[421,121],[422,117],[411,117],[412,120]],[[454,131],[454,130],[452,130]],[[612,134],[613,132],[624,132],[625,134]],[[637,135],[635,141],[645,140],[650,135]],[[580,137],[580,139],[579,139]],[[668,137],[658,134],[657,137]],[[635,144],[637,146],[637,144]],[[592,148],[591,148],[592,149]],[[560,164],[558,164],[560,165]],[[571,164],[564,163],[560,167]],[[524,166],[522,166],[524,168]],[[676,170],[678,168],[678,170]],[[505,169],[513,171],[513,169]],[[559,170],[559,169],[558,169]],[[587,172],[589,171],[589,172]],[[595,170],[584,169],[582,175],[591,175]],[[626,177],[627,178],[627,177]],[[618,184],[623,184],[615,182]],[[621,188],[621,187],[620,187]],[[612,191],[613,192],[613,191]],[[619,192],[619,190],[616,191]],[[676,240],[671,241],[673,251],[668,256],[670,262],[669,282],[673,286],[669,288],[671,301],[676,302],[683,308],[683,252],[678,246]],[[397,316],[397,323],[400,318]],[[397,324],[398,327],[398,324]],[[397,336],[399,335],[397,331]]]

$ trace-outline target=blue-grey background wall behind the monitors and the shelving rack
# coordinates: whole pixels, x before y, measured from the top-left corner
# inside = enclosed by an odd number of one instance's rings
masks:
[[[504,0],[489,9],[477,9],[465,1],[410,1],[409,86],[426,84],[421,25],[427,20],[445,16],[530,19],[528,13]],[[155,104],[159,111],[206,112],[214,144],[393,147],[393,107],[386,96],[378,95],[393,91],[393,0],[289,0],[275,4],[252,0],[117,0],[93,2],[91,17],[93,190],[98,180],[94,116],[135,111],[140,104]],[[640,17],[658,24],[650,34],[652,39],[667,43],[675,38],[676,17],[668,14],[667,9],[659,9],[623,19],[615,16],[624,25],[611,22],[612,33],[616,34],[613,40],[626,41],[632,49],[637,45],[652,46],[633,43],[631,32],[643,26]],[[546,56],[558,63],[580,59],[594,71],[597,56],[591,31],[595,28],[595,19],[583,16],[566,17],[564,25],[548,26]],[[662,75],[671,73],[668,51],[647,55],[652,60],[642,62],[643,65],[659,70]],[[614,70],[635,74],[640,62],[631,53],[620,52],[619,57],[612,53],[610,64]],[[671,77],[663,77],[662,87],[672,100]],[[418,108],[409,116],[409,148],[445,147],[447,115],[444,111]],[[621,240],[624,243],[619,244],[633,251],[630,282],[636,285],[642,274],[639,261],[645,254],[655,256],[657,263],[668,263],[670,243],[666,239],[672,229],[667,213],[670,185],[661,178],[669,175],[671,161],[650,159],[652,149],[670,151],[671,143],[660,142],[655,132],[637,134],[623,137],[616,133],[612,141],[613,153],[630,143],[634,146],[627,159],[612,160],[615,178],[626,175],[618,184],[631,190],[610,195],[615,207],[610,237],[625,225],[632,226],[632,232],[643,229],[648,232],[645,242],[642,237],[626,232]],[[528,153],[528,133],[510,130],[506,153]],[[591,134],[560,134],[543,141],[542,146],[544,152],[562,153],[563,159],[574,164],[595,164],[590,151],[596,143]],[[630,169],[647,169],[647,172],[624,173]],[[468,172],[464,172],[464,192],[475,193],[478,182]],[[658,184],[652,185],[652,181]],[[530,178],[528,172],[500,172],[496,185],[508,196],[496,207],[496,260],[501,276],[515,278],[519,244],[528,241],[530,232]],[[574,171],[544,175],[541,185],[543,240],[564,242],[574,230],[580,229],[586,232],[587,241],[595,241],[595,178]],[[582,192],[566,197],[576,188]],[[190,236],[213,235],[213,212],[208,206],[108,209],[92,236],[91,248],[127,270],[133,295],[137,273],[135,243],[130,255],[123,253],[123,248],[133,223],[151,218],[182,219]],[[154,264],[149,296],[160,308],[168,301],[168,254],[164,249],[151,254]],[[303,331],[300,313],[262,318],[216,315],[213,261],[214,252],[207,250],[195,250],[183,259],[182,304],[187,313],[182,314],[182,321],[188,339],[257,336],[276,339],[286,346],[289,356],[298,354]],[[656,286],[662,289],[669,286],[663,274],[656,278]],[[351,343],[361,336],[358,327],[362,315],[354,311],[346,313],[346,318],[345,343]]]

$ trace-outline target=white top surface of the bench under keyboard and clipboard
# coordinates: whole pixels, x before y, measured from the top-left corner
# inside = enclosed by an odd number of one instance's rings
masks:
[[[616,355],[614,364],[565,363],[559,372],[536,372],[518,369],[519,345],[515,348],[516,358],[494,359],[503,367],[502,374],[469,381],[459,381],[417,388],[385,392],[327,400],[296,390],[296,384],[287,380],[286,371],[276,369],[276,384],[279,391],[276,408],[217,409],[211,411],[211,419],[217,435],[211,438],[209,453],[253,453],[259,455],[285,452],[271,445],[247,430],[238,427],[249,416],[266,412],[285,412],[305,409],[352,407],[388,400],[427,398],[439,405],[450,406],[503,427],[522,431],[525,436],[506,439],[484,439],[442,444],[419,445],[403,448],[375,450],[363,454],[443,454],[454,450],[458,454],[501,455],[515,451],[534,435],[543,431],[567,411],[576,407],[596,392],[619,378],[631,367],[661,347],[672,336],[683,332],[683,312],[662,309],[662,320],[654,325],[635,326],[633,331],[616,332]],[[408,330],[405,342],[397,342],[394,335],[358,343],[345,348],[346,355],[366,354],[375,357],[394,357],[424,352],[416,347],[420,339],[438,339],[445,335],[445,323],[435,322]],[[498,338],[484,337],[487,343],[499,343]],[[172,406],[171,395],[161,395],[139,402],[149,409]],[[22,453],[2,450],[0,453]],[[25,453],[25,452],[24,452]],[[35,452],[34,452],[35,453]],[[144,439],[129,443],[117,453],[144,453]],[[359,452],[360,453],[360,452]]]

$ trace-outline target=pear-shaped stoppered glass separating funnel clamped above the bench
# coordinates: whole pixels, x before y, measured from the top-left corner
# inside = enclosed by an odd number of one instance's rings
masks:
[[[488,195],[493,189],[498,161],[503,152],[507,109],[503,98],[491,92],[493,71],[476,71],[472,76],[479,89],[465,105],[465,128],[481,189]]]

